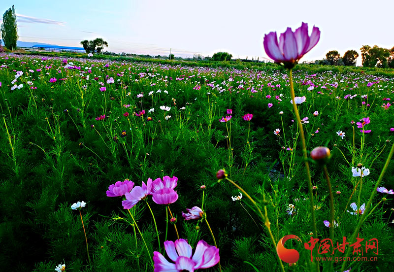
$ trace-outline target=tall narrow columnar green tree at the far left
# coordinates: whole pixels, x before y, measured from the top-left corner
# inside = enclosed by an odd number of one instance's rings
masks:
[[[3,14],[3,22],[1,24],[1,33],[5,47],[9,50],[16,48],[16,41],[18,40],[18,28],[16,27],[15,8],[9,8]]]

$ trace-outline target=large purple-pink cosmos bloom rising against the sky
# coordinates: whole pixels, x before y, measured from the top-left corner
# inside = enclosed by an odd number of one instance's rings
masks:
[[[279,43],[276,32],[264,35],[264,49],[268,57],[275,63],[286,68],[293,68],[299,59],[311,50],[320,39],[320,30],[313,27],[312,34],[308,35],[308,24],[302,23],[295,32],[287,28],[280,34]]]

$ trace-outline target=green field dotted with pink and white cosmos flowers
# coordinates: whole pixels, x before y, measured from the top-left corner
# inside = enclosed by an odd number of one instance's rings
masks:
[[[393,100],[374,69],[0,55],[0,270],[389,271]]]

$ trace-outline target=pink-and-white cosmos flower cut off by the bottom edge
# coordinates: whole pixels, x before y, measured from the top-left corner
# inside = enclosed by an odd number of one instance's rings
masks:
[[[164,248],[174,263],[168,262],[162,253],[155,251],[153,253],[154,272],[194,272],[197,269],[213,267],[220,260],[219,249],[207,244],[204,240],[198,241],[194,255],[192,247],[185,239],[178,239],[175,242],[165,241]]]

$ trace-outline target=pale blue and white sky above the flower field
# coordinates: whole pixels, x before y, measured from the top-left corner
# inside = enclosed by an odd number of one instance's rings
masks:
[[[21,41],[82,47],[81,40],[102,37],[116,53],[168,55],[172,48],[180,57],[227,51],[264,60],[264,34],[279,37],[302,22],[321,37],[301,62],[330,50],[361,55],[362,45],[394,46],[393,0],[1,0],[0,14],[12,5]]]

